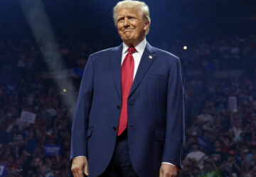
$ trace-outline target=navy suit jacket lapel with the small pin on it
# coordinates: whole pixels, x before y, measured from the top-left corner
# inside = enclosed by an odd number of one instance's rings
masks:
[[[132,83],[132,89],[129,92],[129,96],[134,93],[134,91],[137,89],[137,86],[139,86],[139,83],[142,81],[144,75],[146,74],[146,71],[149,69],[151,64],[154,62],[154,59],[156,58],[156,55],[154,55],[154,49],[151,45],[149,45],[149,42],[146,42],[146,47],[142,55],[142,59],[139,62],[139,67],[137,70],[137,73],[135,75],[134,81]],[[129,98],[128,96],[128,98]]]

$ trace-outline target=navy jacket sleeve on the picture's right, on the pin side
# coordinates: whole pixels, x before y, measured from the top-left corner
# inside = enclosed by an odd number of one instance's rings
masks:
[[[162,161],[175,164],[182,169],[184,134],[184,89],[181,63],[177,58],[171,64],[167,93],[166,137]]]

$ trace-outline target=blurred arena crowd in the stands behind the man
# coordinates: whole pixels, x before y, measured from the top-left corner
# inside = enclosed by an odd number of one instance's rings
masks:
[[[255,41],[248,35],[157,45],[180,57],[183,67],[181,176],[256,176]],[[83,69],[90,53],[113,46],[107,38],[57,42],[67,69]],[[0,176],[71,176],[73,115],[53,79],[44,77],[50,71],[40,47],[31,40],[0,39],[0,63]],[[70,77],[78,91],[80,74]],[[230,96],[237,102],[232,110]],[[34,122],[21,122],[22,111],[36,114]],[[49,153],[46,147],[57,150]]]

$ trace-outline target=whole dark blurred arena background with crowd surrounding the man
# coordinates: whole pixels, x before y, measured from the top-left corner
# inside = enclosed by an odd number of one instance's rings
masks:
[[[151,12],[146,39],[181,59],[186,91],[181,176],[256,176],[256,1],[145,2]],[[70,105],[88,56],[121,43],[112,20],[115,4],[43,0],[55,38],[37,33],[43,38],[36,40],[27,11],[16,0],[0,0],[0,166],[8,176],[72,176]],[[38,19],[32,24],[44,32]],[[74,101],[67,101],[70,94]],[[235,113],[228,108],[230,96],[238,101]],[[36,113],[36,122],[19,126],[23,110]],[[60,146],[61,153],[47,156],[47,144]]]

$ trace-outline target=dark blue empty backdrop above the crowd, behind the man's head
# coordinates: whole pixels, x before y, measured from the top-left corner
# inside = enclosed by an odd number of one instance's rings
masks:
[[[152,21],[149,41],[255,33],[256,1],[253,0],[145,2],[149,5]],[[112,21],[112,7],[116,3],[117,1],[103,0],[43,1],[55,35],[70,36],[80,33],[91,40],[104,35],[119,39]],[[16,0],[0,1],[0,27],[1,36],[31,35]]]

